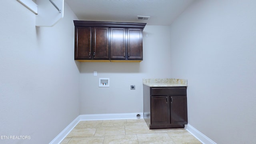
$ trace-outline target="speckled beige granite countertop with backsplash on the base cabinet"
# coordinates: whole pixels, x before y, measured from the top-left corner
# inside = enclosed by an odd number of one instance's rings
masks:
[[[188,86],[188,80],[176,78],[143,78],[143,84],[150,87]]]

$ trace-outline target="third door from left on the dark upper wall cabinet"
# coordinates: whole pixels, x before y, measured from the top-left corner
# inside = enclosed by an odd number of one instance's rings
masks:
[[[110,28],[110,37],[111,59],[125,59],[125,28]]]

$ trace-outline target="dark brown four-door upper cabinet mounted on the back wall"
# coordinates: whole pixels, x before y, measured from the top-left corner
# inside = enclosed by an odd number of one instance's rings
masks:
[[[74,20],[75,60],[143,60],[146,23]]]

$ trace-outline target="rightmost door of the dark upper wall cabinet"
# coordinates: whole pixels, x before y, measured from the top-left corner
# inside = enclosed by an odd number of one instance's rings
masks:
[[[142,29],[128,28],[128,59],[142,59]]]

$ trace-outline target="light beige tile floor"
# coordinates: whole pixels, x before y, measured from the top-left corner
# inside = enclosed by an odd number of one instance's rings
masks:
[[[184,128],[149,130],[143,118],[80,121],[61,144],[201,144]]]

